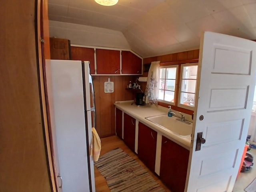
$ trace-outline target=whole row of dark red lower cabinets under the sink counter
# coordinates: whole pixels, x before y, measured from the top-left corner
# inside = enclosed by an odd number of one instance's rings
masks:
[[[166,138],[161,132],[153,130],[146,123],[116,108],[116,134],[120,138],[122,138],[122,121],[124,143],[133,152],[137,152],[140,160],[152,172],[159,174],[160,180],[172,192],[184,192],[189,150]],[[157,142],[161,137],[162,142]]]

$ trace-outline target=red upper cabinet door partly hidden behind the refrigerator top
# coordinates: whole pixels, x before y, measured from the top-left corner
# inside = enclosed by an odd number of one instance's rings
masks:
[[[95,74],[94,48],[71,46],[71,59],[90,61],[90,74]]]

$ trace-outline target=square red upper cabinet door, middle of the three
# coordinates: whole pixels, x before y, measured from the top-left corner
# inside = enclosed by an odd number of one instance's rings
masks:
[[[120,74],[120,51],[96,49],[97,74]]]

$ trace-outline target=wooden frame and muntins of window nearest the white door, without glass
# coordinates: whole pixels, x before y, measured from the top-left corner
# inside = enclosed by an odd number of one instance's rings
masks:
[[[187,67],[187,66],[198,66],[198,62],[197,63],[185,63],[185,64],[181,64],[180,65],[180,84],[179,84],[179,90],[178,90],[178,103],[177,103],[177,106],[180,107],[180,108],[188,109],[188,110],[194,110],[195,106],[188,106],[188,105],[184,105],[184,104],[180,103],[180,97],[181,97],[181,94],[182,94],[183,68]],[[197,70],[197,72],[198,72],[198,70]],[[186,79],[186,80],[195,80],[196,84],[197,84],[197,80],[198,80],[197,79],[198,78],[197,72],[196,72],[196,79]],[[192,93],[192,94],[194,94],[194,98],[196,98],[196,86],[195,86],[195,92]]]

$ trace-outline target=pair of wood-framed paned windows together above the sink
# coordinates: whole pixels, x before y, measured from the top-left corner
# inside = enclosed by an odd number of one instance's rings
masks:
[[[176,106],[177,110],[193,111],[197,66],[198,63],[160,66],[158,100]]]

